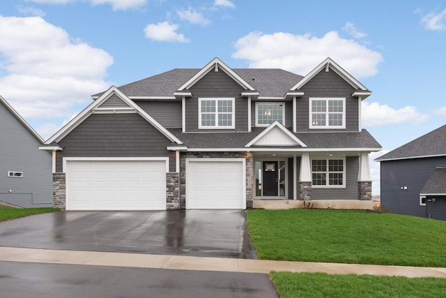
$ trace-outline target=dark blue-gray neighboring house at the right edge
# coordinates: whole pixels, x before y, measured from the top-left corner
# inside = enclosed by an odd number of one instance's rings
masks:
[[[446,125],[375,161],[385,209],[446,221]]]

